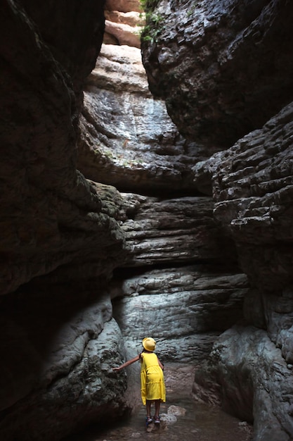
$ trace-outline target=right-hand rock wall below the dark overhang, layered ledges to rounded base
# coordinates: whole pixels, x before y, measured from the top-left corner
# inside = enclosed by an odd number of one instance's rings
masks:
[[[223,391],[218,394],[224,408],[255,421],[256,440],[290,440],[293,433],[291,398],[289,402],[282,398],[292,396],[293,381],[292,204],[288,204],[293,190],[292,111],[289,104],[262,130],[195,168],[201,181],[202,172],[206,178],[212,175],[214,214],[235,240],[242,268],[255,287],[245,298],[245,318],[254,327],[242,325],[224,333],[210,363],[211,377]],[[206,387],[204,377],[206,373],[199,373],[197,383]],[[194,391],[202,395],[197,385]]]

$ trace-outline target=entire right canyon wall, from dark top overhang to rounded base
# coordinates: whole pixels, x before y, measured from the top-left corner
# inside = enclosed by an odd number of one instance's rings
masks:
[[[214,218],[233,238],[252,286],[245,322],[214,344],[194,394],[254,421],[254,440],[290,440],[293,7],[282,1],[155,6],[149,4],[143,42],[150,89],[165,97],[187,139],[226,148],[196,164],[195,183],[213,194]]]

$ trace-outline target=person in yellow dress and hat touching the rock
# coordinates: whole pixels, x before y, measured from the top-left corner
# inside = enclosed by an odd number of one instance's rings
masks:
[[[152,421],[159,424],[159,406],[161,402],[166,402],[166,390],[164,383],[164,366],[154,354],[156,342],[152,337],[145,337],[143,339],[143,352],[134,357],[118,368],[113,368],[113,371],[120,371],[129,364],[135,361],[141,361],[141,399],[143,405],[146,406],[146,425],[148,426]],[[150,408],[152,402],[155,402],[155,416],[150,416]]]

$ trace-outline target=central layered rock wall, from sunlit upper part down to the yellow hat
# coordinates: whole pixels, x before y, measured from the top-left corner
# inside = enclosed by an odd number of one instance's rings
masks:
[[[115,7],[119,11],[106,15],[116,21],[126,8]],[[131,190],[122,194],[126,212],[122,230],[129,254],[122,266],[125,269],[115,271],[110,285],[111,296],[116,298],[114,316],[126,341],[132,342],[134,355],[143,337],[152,334],[166,361],[200,363],[216,335],[242,316],[247,279],[237,275],[235,248],[214,222],[211,197],[200,196],[194,182],[192,166],[205,159],[207,151],[202,144],[182,137],[164,101],[153,99],[141,52],[133,46],[111,44],[108,35],[104,41],[85,89],[78,166],[93,180]],[[199,263],[205,265],[198,267]],[[200,271],[209,280],[202,290],[195,282]],[[181,282],[176,272],[187,279]],[[189,280],[188,273],[190,285],[184,290],[181,285]],[[218,280],[221,275],[227,279],[223,285]],[[136,299],[125,289],[134,280],[141,287]],[[152,290],[151,285],[157,288]],[[207,299],[211,299],[210,312],[204,318],[201,305],[207,306]],[[138,327],[139,321],[145,325]],[[181,350],[168,353],[167,335]]]

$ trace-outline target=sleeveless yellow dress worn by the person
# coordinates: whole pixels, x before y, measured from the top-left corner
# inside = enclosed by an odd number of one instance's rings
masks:
[[[166,402],[164,373],[153,352],[141,353],[141,399],[144,405],[147,399]]]

